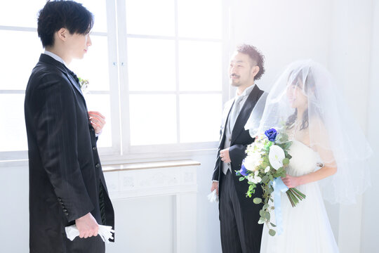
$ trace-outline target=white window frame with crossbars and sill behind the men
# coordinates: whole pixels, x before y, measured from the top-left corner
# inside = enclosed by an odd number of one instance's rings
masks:
[[[175,94],[177,106],[177,138],[180,141],[180,108],[179,96],[181,94],[221,94],[223,104],[230,99],[230,85],[228,77],[228,65],[230,57],[230,4],[228,0],[222,0],[222,39],[197,39],[178,37],[178,0],[175,0],[175,36],[149,36],[128,34],[126,30],[126,0],[105,0],[107,8],[107,32],[92,32],[95,36],[105,36],[108,42],[108,70],[109,91],[91,91],[91,94],[109,94],[111,120],[112,120],[112,147],[99,148],[101,159],[105,162],[128,160],[152,160],[162,157],[183,157],[195,154],[204,154],[207,151],[214,153],[218,147],[218,141],[197,143],[174,143],[161,145],[131,145],[130,143],[130,110],[129,96],[131,94]],[[36,32],[34,27],[1,26],[0,30],[12,30],[20,32]],[[176,66],[176,90],[175,91],[143,91],[128,90],[127,72],[127,39],[172,39],[175,40],[175,66]],[[217,41],[222,43],[222,91],[179,91],[178,86],[178,44],[179,41]],[[36,59],[37,62],[38,59]],[[24,93],[24,90],[0,90],[0,93]],[[122,108],[122,109],[121,109]],[[220,119],[221,122],[221,119]],[[101,138],[101,136],[100,136]],[[9,151],[0,153],[2,161],[27,160],[27,150]]]

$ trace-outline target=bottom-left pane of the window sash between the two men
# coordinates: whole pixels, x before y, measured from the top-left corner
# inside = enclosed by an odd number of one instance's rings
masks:
[[[176,143],[175,95],[131,95],[131,145]]]

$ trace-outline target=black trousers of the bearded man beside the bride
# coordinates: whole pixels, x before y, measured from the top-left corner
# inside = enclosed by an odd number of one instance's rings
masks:
[[[255,214],[244,213],[234,187],[233,176],[229,170],[226,175],[221,172],[219,208],[222,252],[259,253],[262,236],[262,226],[256,223],[259,214],[254,222],[252,219],[244,219],[244,216],[255,216]],[[253,200],[250,201],[251,205],[255,205]]]

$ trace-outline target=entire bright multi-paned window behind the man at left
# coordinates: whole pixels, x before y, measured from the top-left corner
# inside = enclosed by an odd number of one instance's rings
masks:
[[[107,117],[100,154],[215,148],[228,97],[224,1],[78,2],[95,15],[93,46],[69,67],[89,80],[88,109]],[[0,4],[0,160],[27,158],[23,101],[43,52],[36,16],[45,3]]]

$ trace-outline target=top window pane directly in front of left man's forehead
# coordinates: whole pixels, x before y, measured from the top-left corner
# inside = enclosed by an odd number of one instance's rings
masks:
[[[107,32],[107,4],[105,0],[76,0],[93,13],[93,32]]]

